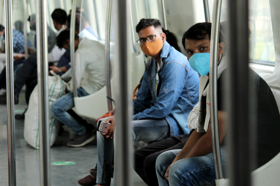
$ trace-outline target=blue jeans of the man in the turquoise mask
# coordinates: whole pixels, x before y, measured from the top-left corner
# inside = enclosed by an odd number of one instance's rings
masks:
[[[223,174],[225,175],[226,148],[220,146]],[[176,161],[169,169],[169,182],[164,174],[176,155],[181,151],[171,150],[160,154],[156,161],[157,180],[160,186],[215,185],[213,153],[204,156],[186,158]]]

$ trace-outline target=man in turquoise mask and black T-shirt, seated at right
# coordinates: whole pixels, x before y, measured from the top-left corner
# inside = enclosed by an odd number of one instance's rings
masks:
[[[161,153],[156,160],[156,174],[160,186],[215,185],[211,131],[210,131],[210,96],[209,96],[209,63],[210,63],[211,23],[197,23],[183,34],[182,44],[187,52],[190,65],[200,75],[199,102],[190,112],[188,126],[197,129],[190,135],[183,149]],[[220,31],[218,49],[218,124],[223,172],[227,167],[226,147],[223,139],[226,135],[225,105],[222,102],[222,84],[226,76],[227,58],[223,34]],[[201,63],[202,60],[207,63]],[[202,64],[202,65],[201,65]],[[255,88],[254,107],[258,113],[254,127],[258,127],[257,165],[260,167],[280,151],[278,131],[280,115],[276,101],[267,83],[253,70],[249,71],[249,84]],[[254,100],[252,100],[254,101]],[[250,101],[249,101],[250,102]],[[254,102],[255,103],[255,102]],[[174,148],[173,148],[174,149]],[[147,175],[149,176],[149,175]]]

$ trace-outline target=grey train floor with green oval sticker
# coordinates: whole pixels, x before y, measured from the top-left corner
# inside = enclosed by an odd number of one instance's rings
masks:
[[[20,103],[15,105],[15,114],[23,112],[27,107],[24,93],[20,94]],[[23,137],[24,120],[15,120],[15,154],[16,182],[20,186],[40,185],[39,151],[29,146]],[[75,162],[71,165],[51,165],[52,186],[76,186],[77,181],[89,174],[97,162],[96,142],[86,146],[73,148],[66,144],[71,133],[64,132],[58,136],[50,148],[50,162]],[[8,145],[7,145],[7,108],[0,105],[0,186],[8,186]],[[134,172],[134,185],[146,186]]]

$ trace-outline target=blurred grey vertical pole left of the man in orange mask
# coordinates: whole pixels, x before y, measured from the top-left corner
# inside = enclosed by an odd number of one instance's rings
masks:
[[[131,139],[131,110],[130,94],[128,88],[128,23],[127,0],[115,2],[116,16],[116,59],[118,76],[118,105],[117,105],[117,128],[115,135],[115,185],[133,186],[132,176],[132,139]]]

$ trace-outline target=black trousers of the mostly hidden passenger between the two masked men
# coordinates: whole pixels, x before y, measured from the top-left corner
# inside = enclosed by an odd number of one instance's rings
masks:
[[[137,149],[134,151],[134,170],[147,185],[157,186],[158,182],[155,171],[155,161],[157,157],[165,151],[183,149],[190,135],[191,133],[172,136],[141,149]]]

